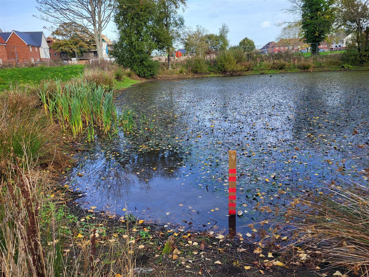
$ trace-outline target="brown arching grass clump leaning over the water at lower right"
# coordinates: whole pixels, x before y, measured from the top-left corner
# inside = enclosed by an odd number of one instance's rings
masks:
[[[280,210],[293,227],[289,247],[295,253],[297,249],[295,264],[313,261],[325,263],[325,269],[345,267],[368,276],[369,149],[365,144],[357,147],[362,154],[337,163],[337,176],[324,182],[325,187],[301,192]]]

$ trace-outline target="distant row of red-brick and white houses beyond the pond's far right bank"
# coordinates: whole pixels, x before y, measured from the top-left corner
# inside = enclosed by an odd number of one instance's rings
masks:
[[[350,40],[351,34],[341,35],[331,38],[331,42],[322,41],[318,44],[318,51],[339,51],[344,50],[346,43]],[[302,38],[281,39],[277,42],[270,41],[264,45],[261,54],[284,53],[284,52],[309,52],[311,44],[304,42]]]

